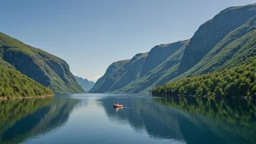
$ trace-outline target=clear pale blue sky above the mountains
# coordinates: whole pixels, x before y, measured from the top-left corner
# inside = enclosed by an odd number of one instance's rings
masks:
[[[227,7],[256,0],[1,0],[0,31],[97,81],[111,63],[190,39]]]

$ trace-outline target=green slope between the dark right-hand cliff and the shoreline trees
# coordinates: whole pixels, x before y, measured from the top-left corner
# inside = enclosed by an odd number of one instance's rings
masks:
[[[229,33],[193,68],[172,81],[241,65],[256,55],[256,16]]]

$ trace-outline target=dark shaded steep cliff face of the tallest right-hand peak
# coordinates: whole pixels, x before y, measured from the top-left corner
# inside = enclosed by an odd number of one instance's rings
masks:
[[[213,17],[199,27],[185,47],[184,56],[180,62],[179,73],[183,73],[207,55],[228,33],[235,30],[256,15],[256,5],[230,7]],[[239,35],[239,33],[238,33]],[[232,39],[229,39],[232,41]]]

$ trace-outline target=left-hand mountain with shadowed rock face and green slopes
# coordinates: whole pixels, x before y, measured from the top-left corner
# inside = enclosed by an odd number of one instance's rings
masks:
[[[8,93],[10,91],[12,93],[17,92],[15,95],[18,96],[31,96],[36,93],[34,92],[36,90],[29,90],[28,87],[41,89],[41,85],[52,89],[53,92],[84,92],[84,89],[79,86],[75,76],[69,70],[69,65],[65,60],[24,44],[4,33],[0,33],[0,65],[6,69],[6,71],[2,71],[1,77],[6,78],[6,81],[12,81],[11,77],[15,77],[18,86],[13,86],[13,82],[10,83],[11,85],[0,84],[0,89],[4,89],[0,96],[14,96]],[[9,69],[12,69],[12,71],[9,71]],[[15,73],[17,73],[17,76],[15,76]],[[27,88],[23,87],[24,81],[20,79],[23,76],[18,76],[21,73],[28,79],[28,83],[25,83],[28,86]],[[34,84],[35,82],[40,84],[37,86],[37,84]],[[52,91],[44,90],[49,94]]]

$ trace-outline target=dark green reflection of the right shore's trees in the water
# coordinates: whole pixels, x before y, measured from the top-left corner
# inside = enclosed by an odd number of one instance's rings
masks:
[[[179,108],[189,113],[199,113],[201,116],[207,116],[216,121],[225,121],[228,124],[239,124],[249,128],[255,124],[256,103],[251,100],[204,97],[169,97],[168,99],[153,100],[171,108]]]

